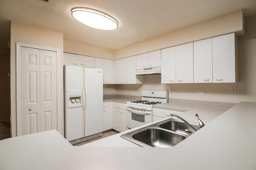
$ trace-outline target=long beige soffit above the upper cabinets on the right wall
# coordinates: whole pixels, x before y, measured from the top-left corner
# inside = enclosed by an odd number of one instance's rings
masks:
[[[239,35],[244,34],[242,10],[118,49],[114,52],[114,59],[121,59],[232,32],[237,32]]]

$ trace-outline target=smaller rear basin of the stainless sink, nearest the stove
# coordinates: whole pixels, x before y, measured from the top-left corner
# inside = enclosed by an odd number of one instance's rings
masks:
[[[189,124],[198,130],[198,124],[196,124],[196,123],[189,123]],[[170,131],[182,133],[184,135],[186,135],[186,133],[184,132],[185,129],[187,129],[191,132],[194,132],[194,130],[191,127],[189,127],[186,123],[184,123],[182,121],[174,120],[174,119],[165,121],[164,123],[159,123],[158,126],[161,128],[164,128],[164,129],[168,129]]]

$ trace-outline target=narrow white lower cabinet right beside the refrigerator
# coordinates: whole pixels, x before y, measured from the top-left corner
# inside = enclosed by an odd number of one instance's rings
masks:
[[[103,103],[103,131],[112,129],[110,102]]]

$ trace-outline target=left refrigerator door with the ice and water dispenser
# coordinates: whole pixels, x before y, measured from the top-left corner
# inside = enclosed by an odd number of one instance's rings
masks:
[[[76,105],[76,98],[79,98],[82,92],[82,74],[83,67],[78,66],[64,66],[64,96],[65,96],[65,138],[68,141],[84,137],[83,134],[83,121],[82,121],[82,106],[69,107],[70,93],[77,92],[78,96],[71,99],[71,104]],[[72,93],[73,95],[73,93]],[[73,102],[73,103],[72,103]],[[81,101],[82,102],[82,101]]]

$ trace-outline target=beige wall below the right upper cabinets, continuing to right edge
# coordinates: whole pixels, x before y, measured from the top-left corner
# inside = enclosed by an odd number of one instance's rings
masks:
[[[256,15],[245,18],[245,27],[246,35],[238,37],[238,83],[161,84],[161,75],[153,75],[144,76],[144,84],[116,85],[116,93],[141,96],[142,90],[168,90],[169,98],[176,99],[256,102]],[[237,87],[236,94],[230,94],[231,86]],[[197,89],[204,89],[205,96],[197,96]]]

